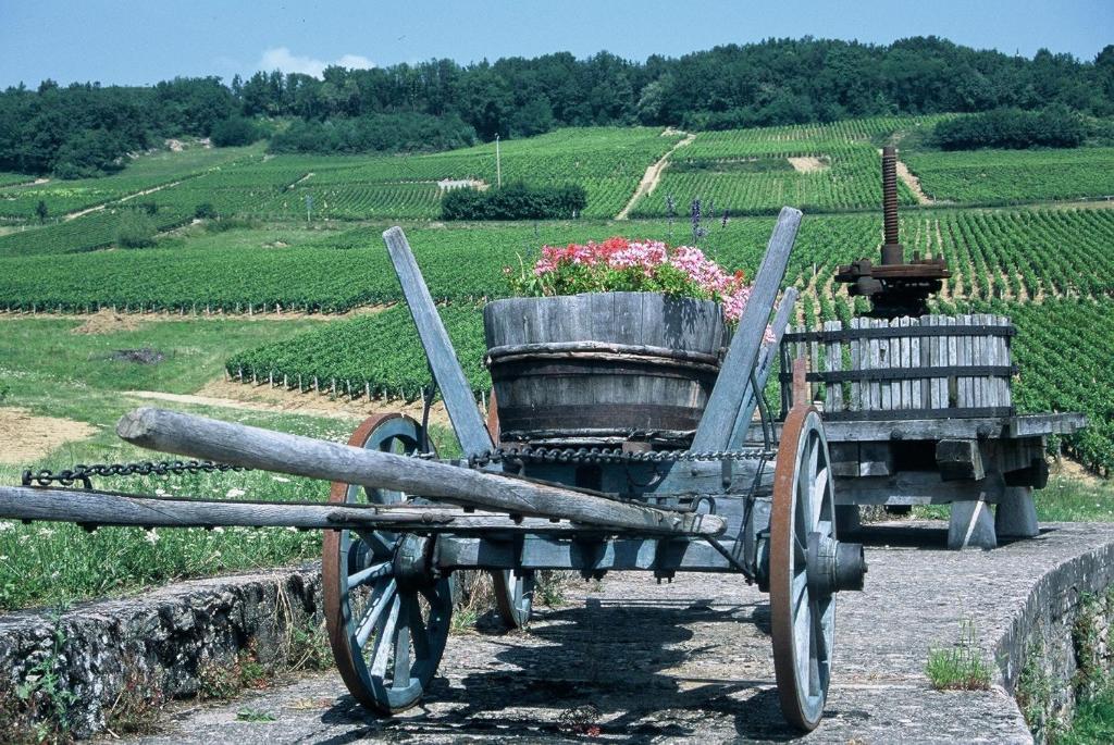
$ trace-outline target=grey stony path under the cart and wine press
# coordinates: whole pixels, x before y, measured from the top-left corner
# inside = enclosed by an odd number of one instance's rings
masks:
[[[872,529],[867,591],[841,596],[824,722],[808,742],[1030,742],[999,686],[937,693],[921,673],[931,645],[974,618],[988,659],[1042,576],[1114,543],[1114,526],[1052,526],[995,551],[941,550],[946,531]],[[449,640],[424,704],[394,719],[360,710],[334,673],[233,703],[180,712],[148,743],[348,743],[590,739],[783,742],[766,596],[726,575],[643,574],[577,582],[528,633]],[[592,707],[592,708],[585,708]],[[246,722],[263,712],[272,722]],[[583,732],[583,727],[580,728]]]

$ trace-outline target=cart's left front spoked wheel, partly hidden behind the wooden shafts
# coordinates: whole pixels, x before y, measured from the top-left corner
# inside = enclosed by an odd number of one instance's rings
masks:
[[[401,414],[370,416],[349,444],[407,453],[421,425]],[[333,482],[330,502],[401,502],[405,494]],[[344,685],[363,706],[393,714],[413,706],[444,651],[450,580],[432,563],[433,540],[385,530],[326,530],[322,557],[325,623]]]

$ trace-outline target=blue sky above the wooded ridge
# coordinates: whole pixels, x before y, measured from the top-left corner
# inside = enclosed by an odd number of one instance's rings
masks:
[[[608,50],[680,56],[768,37],[890,42],[936,35],[1032,57],[1046,47],[1085,60],[1114,43],[1114,0],[828,2],[247,2],[0,0],[0,87],[43,78],[146,85],[174,76],[449,57]]]

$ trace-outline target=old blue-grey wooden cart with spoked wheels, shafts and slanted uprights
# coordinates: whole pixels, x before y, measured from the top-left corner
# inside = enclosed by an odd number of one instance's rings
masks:
[[[494,422],[489,429],[476,405],[405,237],[392,228],[384,239],[462,458],[438,458],[428,428],[400,414],[369,419],[343,445],[139,409],[117,427],[131,443],[330,480],[330,503],[4,487],[0,517],[87,527],[324,529],[325,612],[336,664],[356,700],[384,714],[413,706],[433,678],[448,641],[457,570],[492,574],[510,627],[528,623],[539,570],[588,577],[644,570],[670,579],[678,571],[737,574],[770,594],[782,709],[792,725],[811,729],[832,675],[836,597],[861,589],[866,563],[861,546],[836,535],[820,413],[794,404],[775,442],[761,396],[797,296],[786,291],[774,312],[800,219],[798,210],[782,210],[730,346],[712,361],[696,360],[697,373],[714,363],[717,374],[706,380],[694,431],[643,432],[623,442],[614,431],[612,440],[573,432],[574,440],[588,438],[579,443],[546,433],[514,443],[492,437]],[[771,315],[773,340],[765,334]],[[629,356],[598,346],[579,352],[577,364],[589,366]],[[645,365],[665,376],[678,367],[675,350],[651,356],[657,361],[637,361],[639,374]],[[803,386],[803,364],[797,371]],[[761,441],[750,442],[755,409],[764,427]]]

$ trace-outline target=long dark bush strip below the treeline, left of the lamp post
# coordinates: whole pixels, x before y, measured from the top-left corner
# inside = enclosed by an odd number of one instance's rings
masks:
[[[476,130],[457,115],[375,114],[325,121],[294,121],[271,138],[272,153],[416,153],[476,143]]]

